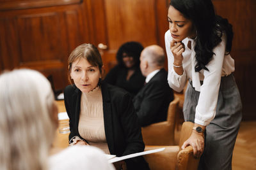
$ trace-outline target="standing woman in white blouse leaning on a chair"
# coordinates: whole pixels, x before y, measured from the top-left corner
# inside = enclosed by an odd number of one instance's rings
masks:
[[[229,55],[232,25],[215,15],[211,0],[172,0],[168,22],[168,83],[180,92],[189,80],[184,118],[195,122],[182,148],[202,155],[198,169],[232,169],[242,109]]]

